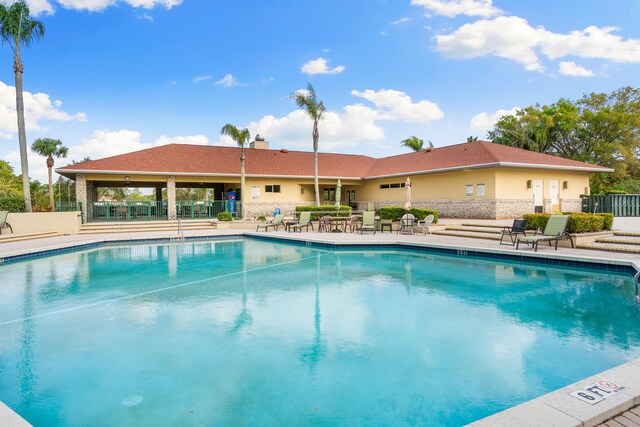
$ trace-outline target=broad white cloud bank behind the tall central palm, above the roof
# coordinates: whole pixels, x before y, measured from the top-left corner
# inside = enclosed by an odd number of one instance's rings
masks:
[[[360,143],[384,140],[380,122],[428,122],[443,116],[438,106],[430,101],[412,102],[404,92],[395,90],[353,91],[353,95],[367,99],[375,108],[360,103],[346,105],[342,111],[327,111],[320,123],[323,150],[354,147]],[[249,124],[251,135],[263,134],[282,146],[308,149],[311,147],[311,120],[302,110],[292,111],[284,117],[265,116]],[[220,139],[223,145],[232,141]]]

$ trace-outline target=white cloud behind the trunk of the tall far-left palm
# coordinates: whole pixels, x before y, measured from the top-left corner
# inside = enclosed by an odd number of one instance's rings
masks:
[[[27,130],[43,131],[46,127],[41,123],[46,120],[84,122],[84,113],[69,114],[60,110],[62,102],[51,101],[46,93],[23,92],[24,117]],[[11,138],[18,131],[16,124],[16,90],[0,81],[0,137]]]

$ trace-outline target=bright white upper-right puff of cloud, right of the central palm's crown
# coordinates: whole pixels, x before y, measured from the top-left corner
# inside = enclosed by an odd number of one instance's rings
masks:
[[[372,102],[378,108],[379,120],[429,122],[444,116],[438,104],[427,100],[414,103],[409,95],[397,90],[381,89],[377,92],[371,89],[362,92],[353,90],[351,94]]]

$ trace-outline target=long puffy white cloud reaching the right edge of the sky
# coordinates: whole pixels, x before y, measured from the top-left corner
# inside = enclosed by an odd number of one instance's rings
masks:
[[[555,60],[566,56],[598,58],[614,62],[640,62],[640,40],[622,39],[613,27],[587,27],[568,34],[532,27],[526,19],[500,16],[465,24],[435,37],[436,48],[450,58],[499,56],[522,64],[529,71],[543,71],[540,54]]]

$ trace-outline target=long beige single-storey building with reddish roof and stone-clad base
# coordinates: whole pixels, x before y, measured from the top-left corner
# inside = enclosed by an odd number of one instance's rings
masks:
[[[248,217],[291,212],[314,204],[313,153],[270,150],[265,142],[245,149],[245,189],[239,194]],[[240,149],[171,144],[65,166],[58,173],[75,179],[77,200],[87,215],[98,187],[148,187],[176,211],[176,188],[209,188],[215,200],[240,192]],[[321,153],[320,199],[364,209],[403,205],[411,180],[412,205],[436,209],[444,217],[506,218],[531,212],[580,211],[580,195],[589,194],[589,177],[611,169],[485,141],[428,149],[385,158]],[[166,189],[166,200],[163,200]]]

